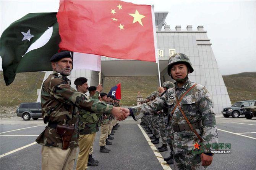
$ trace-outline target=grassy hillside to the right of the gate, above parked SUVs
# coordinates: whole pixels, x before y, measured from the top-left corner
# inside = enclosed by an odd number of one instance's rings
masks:
[[[256,72],[222,76],[232,103],[239,100],[256,100]]]

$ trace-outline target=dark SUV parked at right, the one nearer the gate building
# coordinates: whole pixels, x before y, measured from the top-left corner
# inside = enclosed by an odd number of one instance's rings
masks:
[[[232,116],[233,118],[238,118],[243,115],[243,109],[247,106],[253,106],[256,100],[247,100],[235,102],[231,107],[224,108],[221,113],[225,118]]]

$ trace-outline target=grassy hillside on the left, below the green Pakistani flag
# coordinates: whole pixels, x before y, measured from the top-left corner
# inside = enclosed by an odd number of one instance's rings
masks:
[[[44,72],[18,73],[13,83],[5,85],[0,71],[0,105],[18,106],[22,102],[36,102],[37,89],[41,88]]]

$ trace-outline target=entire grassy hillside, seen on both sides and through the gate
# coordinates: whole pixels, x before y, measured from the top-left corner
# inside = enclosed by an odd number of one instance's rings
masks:
[[[18,73],[12,84],[5,86],[3,73],[0,72],[0,105],[17,106],[22,102],[36,102],[37,89],[41,88],[44,72]],[[246,72],[223,76],[231,102],[256,99],[256,72]],[[156,91],[156,76],[107,77],[104,92],[121,83],[123,105],[136,105],[138,92],[145,98]]]

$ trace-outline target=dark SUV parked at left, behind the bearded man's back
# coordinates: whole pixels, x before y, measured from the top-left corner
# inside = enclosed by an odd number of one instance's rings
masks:
[[[30,118],[37,120],[38,118],[42,118],[41,103],[21,103],[16,113],[24,121],[29,121]]]

